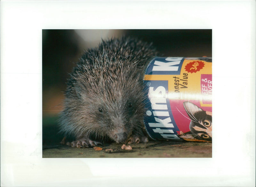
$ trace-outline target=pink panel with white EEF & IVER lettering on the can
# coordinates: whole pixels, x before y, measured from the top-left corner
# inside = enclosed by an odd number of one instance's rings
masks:
[[[212,74],[201,74],[201,93],[203,96],[212,96]],[[212,104],[212,99],[203,99],[202,102]]]

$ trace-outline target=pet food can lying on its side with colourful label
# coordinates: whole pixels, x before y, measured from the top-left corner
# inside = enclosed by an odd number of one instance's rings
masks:
[[[212,142],[212,58],[155,57],[144,84],[152,139]]]

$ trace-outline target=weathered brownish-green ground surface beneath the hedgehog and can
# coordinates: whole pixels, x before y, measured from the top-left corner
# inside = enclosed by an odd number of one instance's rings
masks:
[[[93,148],[56,146],[43,149],[43,158],[200,158],[212,157],[212,143],[150,141],[147,144],[131,144],[132,150],[121,149],[122,144]],[[113,151],[106,151],[113,149]]]

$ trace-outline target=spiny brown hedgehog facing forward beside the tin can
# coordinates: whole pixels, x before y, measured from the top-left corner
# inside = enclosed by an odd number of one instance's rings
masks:
[[[143,76],[156,55],[152,43],[133,37],[102,40],[84,52],[67,80],[59,119],[60,132],[76,138],[70,146],[148,142]]]

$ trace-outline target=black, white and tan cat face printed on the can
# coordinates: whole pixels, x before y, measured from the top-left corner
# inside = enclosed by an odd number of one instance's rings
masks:
[[[185,101],[183,106],[191,119],[191,136],[199,140],[212,141],[212,112],[204,111],[195,104]]]

